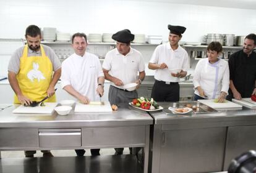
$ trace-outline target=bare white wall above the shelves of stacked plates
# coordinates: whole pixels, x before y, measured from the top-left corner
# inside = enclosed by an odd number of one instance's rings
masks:
[[[207,33],[246,35],[256,32],[256,10],[122,0],[0,1],[0,38],[23,38],[35,24],[62,32],[160,34],[168,24],[184,25],[183,41],[200,41]]]

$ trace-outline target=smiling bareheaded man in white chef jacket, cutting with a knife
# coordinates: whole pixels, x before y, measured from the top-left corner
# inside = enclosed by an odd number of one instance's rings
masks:
[[[100,101],[105,81],[101,63],[96,55],[86,52],[87,36],[75,33],[72,47],[75,53],[62,63],[62,89],[73,95],[79,102],[88,104]],[[75,150],[77,156],[83,156],[85,150]],[[100,155],[100,149],[91,149],[93,156]]]

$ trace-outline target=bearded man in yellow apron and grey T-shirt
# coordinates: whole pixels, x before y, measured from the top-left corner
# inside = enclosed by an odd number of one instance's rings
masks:
[[[8,66],[8,79],[15,92],[14,103],[30,105],[46,97],[46,102],[56,102],[54,86],[61,76],[61,62],[54,51],[40,44],[41,30],[38,26],[27,27],[27,45],[17,49]],[[54,74],[53,74],[54,71]],[[42,151],[43,156],[53,156]],[[26,157],[33,157],[36,151],[25,151]]]

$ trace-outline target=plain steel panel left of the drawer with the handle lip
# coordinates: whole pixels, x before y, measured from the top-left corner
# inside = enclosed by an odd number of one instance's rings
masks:
[[[38,147],[37,129],[0,129],[0,148]]]

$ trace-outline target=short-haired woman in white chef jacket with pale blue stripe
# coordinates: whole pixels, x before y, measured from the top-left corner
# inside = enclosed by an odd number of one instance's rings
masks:
[[[220,42],[213,41],[207,47],[207,58],[197,63],[193,76],[195,100],[218,99],[224,102],[229,89],[228,62],[218,58],[222,52]]]

